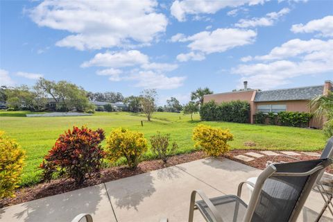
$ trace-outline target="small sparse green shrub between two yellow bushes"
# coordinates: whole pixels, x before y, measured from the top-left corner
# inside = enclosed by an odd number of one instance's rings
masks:
[[[170,134],[161,135],[157,131],[157,135],[151,136],[151,151],[157,155],[164,163],[167,163],[169,157],[173,155],[178,148],[176,142],[169,146]]]

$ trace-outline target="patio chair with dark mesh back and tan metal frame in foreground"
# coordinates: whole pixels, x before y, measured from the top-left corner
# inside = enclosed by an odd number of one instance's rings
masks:
[[[260,173],[248,205],[241,200],[241,187],[248,182],[241,182],[237,196],[207,198],[203,191],[192,191],[189,222],[194,210],[214,222],[296,221],[318,175],[330,164],[330,159],[270,164]]]

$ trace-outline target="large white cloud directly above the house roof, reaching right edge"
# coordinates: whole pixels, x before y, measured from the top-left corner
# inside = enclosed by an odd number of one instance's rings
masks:
[[[266,56],[254,57],[255,60],[272,62],[239,65],[232,69],[232,73],[241,75],[241,81],[248,80],[252,88],[272,89],[297,76],[332,72],[332,46],[333,40],[290,40]]]

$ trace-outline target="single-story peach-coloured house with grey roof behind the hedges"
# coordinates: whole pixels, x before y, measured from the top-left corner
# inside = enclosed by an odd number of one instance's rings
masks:
[[[259,91],[248,89],[248,82],[244,82],[244,89],[236,92],[224,92],[205,95],[203,102],[214,100],[216,103],[227,101],[248,101],[250,103],[250,123],[254,123],[256,112],[310,112],[309,101],[315,96],[333,92],[333,83],[326,80],[323,85],[297,87],[289,89],[274,89]],[[323,120],[312,119],[310,127],[321,128]]]

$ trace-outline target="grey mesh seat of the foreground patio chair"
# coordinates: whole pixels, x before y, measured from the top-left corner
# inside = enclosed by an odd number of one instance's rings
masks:
[[[243,221],[246,207],[248,207],[248,205],[246,205],[246,203],[244,203],[244,201],[238,196],[219,196],[210,198],[210,201],[212,201],[213,205],[219,211],[219,214],[221,214],[223,221]],[[214,218],[214,216],[212,216],[212,212],[203,200],[196,201],[195,205],[198,207],[198,210],[200,210],[200,212],[207,217],[208,221],[214,221],[214,219],[212,219]]]

